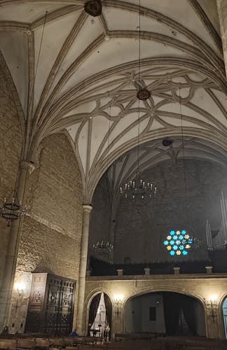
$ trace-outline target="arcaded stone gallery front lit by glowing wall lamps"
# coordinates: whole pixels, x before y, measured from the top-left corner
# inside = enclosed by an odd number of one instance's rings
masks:
[[[179,274],[150,276],[90,277],[85,288],[85,329],[89,307],[97,293],[106,293],[113,304],[111,335],[125,332],[125,307],[132,297],[158,291],[170,291],[195,297],[205,311],[206,337],[224,338],[222,304],[226,297],[226,274]],[[121,297],[121,302],[115,300]],[[214,317],[213,317],[214,316]]]

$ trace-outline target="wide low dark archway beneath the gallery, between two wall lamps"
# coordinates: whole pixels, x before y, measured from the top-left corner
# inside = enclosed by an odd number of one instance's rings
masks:
[[[125,304],[125,332],[205,336],[204,309],[195,297],[181,293],[138,295]]]

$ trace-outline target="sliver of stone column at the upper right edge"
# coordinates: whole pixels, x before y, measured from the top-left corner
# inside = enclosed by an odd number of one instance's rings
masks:
[[[227,77],[227,1],[216,0],[216,5],[219,13],[219,24],[221,31],[221,41],[223,48],[223,59],[226,66],[226,77]]]

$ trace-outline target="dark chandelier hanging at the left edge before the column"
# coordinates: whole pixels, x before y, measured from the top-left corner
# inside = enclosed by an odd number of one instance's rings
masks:
[[[11,222],[20,219],[27,211],[27,207],[22,207],[22,202],[18,200],[18,194],[13,191],[11,195],[4,198],[3,207],[0,208],[0,216],[4,218],[7,225],[10,226]]]

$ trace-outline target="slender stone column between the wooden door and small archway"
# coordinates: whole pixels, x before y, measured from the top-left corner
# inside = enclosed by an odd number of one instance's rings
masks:
[[[84,294],[85,294],[85,279],[86,279],[86,267],[88,259],[88,236],[89,236],[89,221],[90,211],[92,206],[88,204],[83,205],[83,228],[81,237],[81,259],[80,259],[80,272],[78,278],[78,307],[76,314],[76,330],[79,335],[85,335],[84,320]]]

